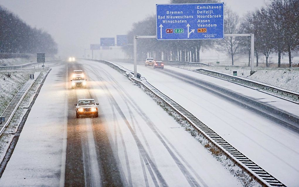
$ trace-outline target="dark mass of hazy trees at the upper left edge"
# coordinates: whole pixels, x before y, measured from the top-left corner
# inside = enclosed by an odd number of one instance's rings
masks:
[[[56,54],[57,44],[50,34],[30,27],[18,16],[0,6],[0,52]]]

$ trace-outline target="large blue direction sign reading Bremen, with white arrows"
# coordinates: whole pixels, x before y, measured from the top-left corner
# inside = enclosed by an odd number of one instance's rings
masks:
[[[157,39],[222,39],[224,3],[156,4]]]

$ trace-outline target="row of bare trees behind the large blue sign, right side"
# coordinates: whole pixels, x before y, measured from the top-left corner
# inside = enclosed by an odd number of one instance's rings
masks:
[[[211,3],[209,0],[172,0],[171,3]],[[133,43],[134,35],[155,35],[156,18],[150,16],[141,22],[133,24],[128,33],[129,43]],[[266,7],[247,13],[243,18],[234,11],[225,8],[225,34],[254,33],[254,54],[257,66],[259,55],[266,57],[266,66],[269,66],[270,54],[278,54],[278,67],[281,64],[281,55],[288,53],[289,66],[292,66],[292,50],[299,47],[299,1],[298,0],[271,0]],[[183,60],[199,62],[201,48],[214,48],[231,56],[232,65],[237,54],[248,54],[250,65],[250,37],[225,37],[222,40],[168,40],[142,39],[137,42],[138,58],[145,58],[155,54],[164,55],[164,60]],[[128,55],[133,54],[133,46],[124,48]]]

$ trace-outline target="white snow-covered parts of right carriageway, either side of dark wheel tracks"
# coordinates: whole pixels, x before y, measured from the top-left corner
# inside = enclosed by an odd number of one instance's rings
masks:
[[[132,70],[133,65],[120,63]],[[137,71],[149,83],[191,112],[231,145],[268,171],[286,186],[299,184],[299,135],[255,112],[224,100],[217,95],[188,84],[164,71],[171,69],[186,75],[234,90],[251,98],[271,102],[271,105],[298,116],[299,105],[258,92],[225,80],[165,66],[152,69],[143,64]]]

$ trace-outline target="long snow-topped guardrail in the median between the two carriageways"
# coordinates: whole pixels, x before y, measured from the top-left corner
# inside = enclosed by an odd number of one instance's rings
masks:
[[[231,144],[226,142],[221,136],[219,136],[215,131],[210,127],[205,125],[202,121],[196,118],[193,114],[188,112],[186,109],[181,107],[178,103],[170,99],[168,96],[164,95],[145,79],[141,80],[136,77],[132,77],[131,71],[128,73],[128,69],[123,68],[118,64],[108,62],[105,60],[93,60],[101,63],[105,63],[112,68],[118,70],[121,73],[126,73],[128,77],[136,84],[143,86],[148,91],[155,94],[158,98],[161,98],[164,101],[164,104],[171,107],[177,114],[182,118],[189,121],[189,123],[197,130],[198,133],[202,134],[212,145],[218,148],[222,154],[224,154],[228,159],[230,159],[234,164],[239,166],[243,171],[245,171],[249,176],[254,180],[260,183],[262,186],[273,187],[280,186],[284,187],[285,185],[265,171],[263,168],[254,163],[251,159],[242,154],[239,150],[234,148]]]

